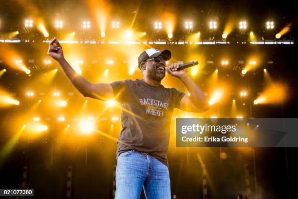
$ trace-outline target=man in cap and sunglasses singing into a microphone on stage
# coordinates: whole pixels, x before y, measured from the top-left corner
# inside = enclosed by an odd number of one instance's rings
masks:
[[[55,45],[56,44],[56,45]],[[170,199],[168,151],[170,122],[174,108],[201,113],[209,108],[200,88],[179,64],[166,61],[169,50],[145,50],[138,58],[142,80],[90,83],[64,59],[62,46],[54,38],[48,55],[57,60],[66,77],[84,96],[115,99],[122,106],[122,130],[118,138],[115,199],[138,199],[142,187],[147,199]],[[166,71],[179,78],[190,96],[175,88],[165,88]]]

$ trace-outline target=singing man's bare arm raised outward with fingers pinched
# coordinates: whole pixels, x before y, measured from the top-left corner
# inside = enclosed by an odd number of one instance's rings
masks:
[[[54,45],[56,43],[56,45]],[[75,86],[75,88],[84,96],[99,100],[108,100],[114,97],[112,86],[108,83],[90,83],[84,77],[75,72],[72,66],[63,56],[62,46],[57,38],[49,44],[48,55],[57,60],[64,74]]]

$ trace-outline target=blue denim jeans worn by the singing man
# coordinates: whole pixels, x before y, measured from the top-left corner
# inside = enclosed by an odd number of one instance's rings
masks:
[[[145,155],[145,154],[144,154]],[[170,199],[168,167],[153,156],[134,150],[119,155],[116,167],[115,199]]]

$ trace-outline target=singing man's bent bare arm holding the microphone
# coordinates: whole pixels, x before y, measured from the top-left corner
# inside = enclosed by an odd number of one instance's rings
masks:
[[[186,95],[181,99],[179,109],[194,113],[205,112],[210,108],[210,105],[206,100],[204,93],[188,77],[185,70],[177,71],[178,67],[179,63],[171,63],[167,68],[167,72],[172,76],[179,78],[190,93],[190,96]],[[171,71],[170,69],[175,69],[176,71]]]

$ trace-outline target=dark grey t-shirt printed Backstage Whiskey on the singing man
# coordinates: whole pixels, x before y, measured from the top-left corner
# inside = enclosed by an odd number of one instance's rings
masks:
[[[111,85],[122,106],[117,158],[133,149],[149,153],[168,166],[171,117],[185,93],[139,79],[114,81]]]

